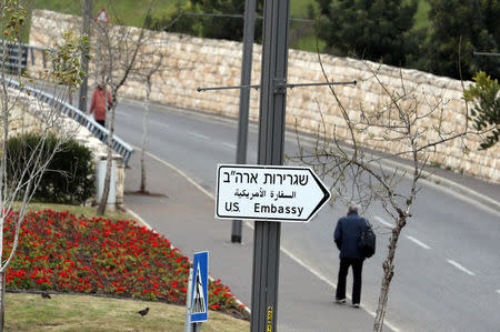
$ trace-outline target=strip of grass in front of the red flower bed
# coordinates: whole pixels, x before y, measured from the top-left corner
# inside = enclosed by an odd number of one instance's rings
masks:
[[[83,295],[6,294],[7,331],[183,331],[180,305]],[[150,308],[146,316],[137,312]],[[209,312],[202,331],[248,331],[250,323]]]

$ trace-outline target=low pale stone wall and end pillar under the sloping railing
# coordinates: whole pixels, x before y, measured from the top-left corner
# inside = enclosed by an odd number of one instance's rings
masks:
[[[28,95],[10,88],[9,95],[17,97],[16,103],[13,104],[10,113],[10,137],[28,132],[39,132],[41,128],[49,128],[47,123],[50,121],[50,128],[52,128],[56,134],[72,138],[80,144],[87,147],[92,152],[94,164],[99,160],[107,158],[108,147],[93,137],[87,128],[79,125],[66,115],[61,117],[58,110],[51,109],[49,105],[42,103],[32,95]],[[10,100],[12,101],[13,99]],[[56,112],[57,114],[54,114]],[[54,121],[54,119],[57,120]],[[124,162],[123,158],[118,153],[113,153],[113,160],[116,162],[117,174],[116,204],[121,207],[123,204],[124,191]]]

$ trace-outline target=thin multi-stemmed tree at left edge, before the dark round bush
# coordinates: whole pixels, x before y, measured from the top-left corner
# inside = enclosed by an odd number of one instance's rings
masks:
[[[0,60],[0,330],[3,330],[4,276],[16,254],[27,207],[52,157],[59,151],[61,144],[74,134],[78,123],[68,120],[59,110],[31,98],[29,93],[8,87],[9,80],[19,81],[21,87],[27,80],[20,76],[20,71],[9,70],[12,61],[6,52],[7,43],[20,46],[27,10],[23,1],[19,0],[1,0],[0,10],[2,13],[0,47],[3,50]],[[52,50],[48,52],[53,68],[46,72],[46,79],[60,85],[58,89],[54,88],[54,91],[59,91],[59,99],[67,100],[69,93],[81,83],[83,72],[80,68],[80,56],[87,44],[86,37],[76,37],[72,32],[67,32],[63,36],[63,42],[53,44]],[[26,113],[37,119],[37,133],[40,140],[34,145],[26,147],[21,155],[10,155],[7,149],[8,140],[16,133],[13,127],[19,125],[19,114],[23,117]],[[53,149],[47,149],[51,137],[56,137],[56,144]],[[22,169],[16,168],[14,158],[23,159]],[[9,219],[13,221],[13,242],[12,245],[4,245],[3,230]]]

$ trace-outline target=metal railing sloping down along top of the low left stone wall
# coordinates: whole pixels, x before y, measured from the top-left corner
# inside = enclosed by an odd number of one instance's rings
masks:
[[[87,128],[96,138],[98,138],[101,142],[108,143],[108,135],[109,131],[101,124],[97,123],[96,120],[92,119],[92,117],[83,113],[79,109],[74,108],[73,105],[67,103],[66,101],[58,99],[53,97],[50,93],[47,93],[44,91],[41,91],[39,89],[33,89],[30,87],[21,87],[21,84],[18,81],[14,81],[12,79],[6,80],[7,84],[11,88],[18,89],[20,91],[27,90],[30,92],[31,95],[34,95],[39,100],[50,104],[54,109],[61,111],[66,115],[70,117],[84,128]],[[133,153],[132,147],[127,144],[123,140],[121,140],[119,137],[113,135],[113,142],[112,142],[112,149],[123,157],[124,164],[127,167],[130,157]]]

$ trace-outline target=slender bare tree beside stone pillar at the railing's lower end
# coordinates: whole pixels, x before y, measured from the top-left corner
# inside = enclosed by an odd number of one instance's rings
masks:
[[[146,17],[151,11],[152,1],[149,4]],[[112,8],[111,8],[112,9]],[[116,16],[116,20],[120,22]],[[146,19],[144,19],[146,24]],[[144,24],[142,27],[144,27]],[[137,33],[134,33],[137,32]],[[98,207],[98,214],[103,214],[110,192],[111,162],[112,162],[112,137],[114,133],[114,114],[118,105],[118,91],[131,74],[141,47],[146,42],[144,29],[130,28],[126,26],[109,27],[108,24],[98,26],[97,36],[101,46],[102,71],[101,77],[106,85],[109,87],[111,94],[111,104],[107,105],[109,118],[107,119],[108,134],[108,157],[104,177],[104,188],[101,201]],[[108,98],[106,97],[108,103]]]

